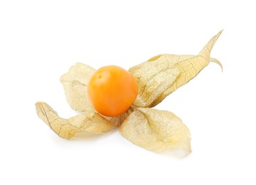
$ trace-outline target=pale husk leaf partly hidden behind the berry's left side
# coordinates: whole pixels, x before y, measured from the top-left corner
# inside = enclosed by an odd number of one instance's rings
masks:
[[[87,85],[96,70],[83,63],[71,66],[68,73],[61,76],[68,104],[73,110],[95,112],[88,99]]]

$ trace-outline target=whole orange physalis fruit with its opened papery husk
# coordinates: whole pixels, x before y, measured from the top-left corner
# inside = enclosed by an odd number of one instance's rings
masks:
[[[37,114],[66,139],[78,132],[98,134],[118,129],[133,144],[153,152],[190,152],[190,131],[182,120],[172,112],[151,107],[188,83],[210,61],[222,67],[210,58],[221,32],[198,56],[158,55],[128,71],[114,65],[95,70],[76,63],[61,76],[61,83],[69,105],[81,114],[63,119],[45,102],[36,102]]]

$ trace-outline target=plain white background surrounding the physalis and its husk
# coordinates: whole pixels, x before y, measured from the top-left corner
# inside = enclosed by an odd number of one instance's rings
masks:
[[[256,184],[253,1],[0,1],[0,184]],[[210,63],[156,108],[190,128],[183,159],[116,132],[61,139],[36,115],[76,112],[59,77],[76,62],[128,69],[159,53],[197,54],[218,31]]]

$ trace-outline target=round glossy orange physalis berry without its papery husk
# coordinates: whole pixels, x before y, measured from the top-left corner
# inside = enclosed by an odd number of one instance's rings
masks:
[[[138,83],[127,70],[116,65],[99,68],[88,83],[93,107],[108,117],[121,115],[138,95]]]

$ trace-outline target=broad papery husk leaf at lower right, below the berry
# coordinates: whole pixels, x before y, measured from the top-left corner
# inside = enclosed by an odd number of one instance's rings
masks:
[[[190,131],[172,112],[138,108],[119,127],[130,142],[153,152],[190,149]]]

